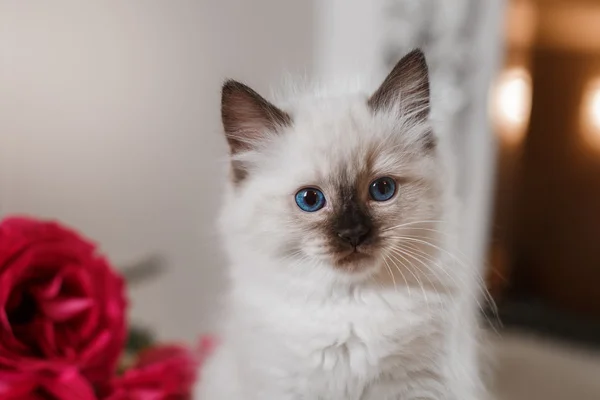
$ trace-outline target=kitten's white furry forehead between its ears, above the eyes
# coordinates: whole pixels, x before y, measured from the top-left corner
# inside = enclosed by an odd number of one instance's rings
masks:
[[[276,165],[299,185],[339,185],[412,174],[419,155],[402,126],[375,116],[366,102],[317,103],[297,110],[281,137]]]

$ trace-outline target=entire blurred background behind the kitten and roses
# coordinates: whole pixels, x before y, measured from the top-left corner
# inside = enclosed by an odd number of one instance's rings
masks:
[[[224,287],[222,81],[377,80],[417,46],[494,391],[600,398],[600,1],[0,0],[0,216],[85,232],[140,277],[131,320],[192,340]]]

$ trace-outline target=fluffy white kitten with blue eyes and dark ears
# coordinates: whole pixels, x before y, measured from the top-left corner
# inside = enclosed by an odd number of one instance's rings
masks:
[[[227,81],[231,292],[200,400],[481,399],[476,270],[415,50],[370,96]]]

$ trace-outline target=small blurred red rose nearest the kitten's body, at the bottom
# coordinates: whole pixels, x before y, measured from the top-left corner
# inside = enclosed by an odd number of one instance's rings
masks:
[[[136,364],[112,384],[106,400],[188,400],[198,357],[181,346],[161,346],[142,352]]]

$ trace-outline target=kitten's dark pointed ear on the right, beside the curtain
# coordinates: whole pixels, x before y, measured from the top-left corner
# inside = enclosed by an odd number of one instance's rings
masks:
[[[419,49],[404,56],[369,99],[369,107],[382,111],[400,107],[419,120],[429,116],[429,73]]]

